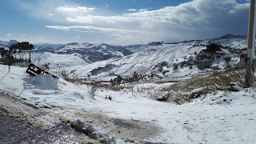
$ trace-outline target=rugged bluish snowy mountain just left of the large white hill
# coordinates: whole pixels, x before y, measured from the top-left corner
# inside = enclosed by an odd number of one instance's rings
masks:
[[[60,46],[55,50],[57,54],[81,54],[86,62],[97,62],[110,58],[121,58],[123,56],[132,54],[123,46],[110,46],[105,43],[91,44],[91,43],[69,43]]]

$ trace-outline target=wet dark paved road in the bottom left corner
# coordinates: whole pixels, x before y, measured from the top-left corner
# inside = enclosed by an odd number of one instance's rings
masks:
[[[86,143],[94,140],[71,129],[69,124],[60,122],[54,114],[27,106],[26,103],[1,93],[0,142]]]

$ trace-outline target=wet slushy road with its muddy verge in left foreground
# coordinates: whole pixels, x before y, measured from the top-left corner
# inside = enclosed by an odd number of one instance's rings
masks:
[[[0,93],[0,142],[3,143],[98,143],[70,128],[81,119],[111,132],[124,142],[140,142],[158,133],[148,122],[109,118],[105,114],[66,107],[37,109],[9,94]]]

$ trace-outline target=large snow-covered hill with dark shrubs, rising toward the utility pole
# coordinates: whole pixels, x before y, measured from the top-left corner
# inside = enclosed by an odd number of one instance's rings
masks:
[[[200,53],[202,50],[206,50],[206,45],[210,43],[221,45],[223,52],[220,54]],[[68,70],[82,75],[84,78],[90,76],[90,78],[100,80],[110,80],[117,75],[129,78],[134,72],[146,77],[151,74],[157,74],[162,78],[187,77],[198,74],[200,63],[218,69],[238,64],[239,53],[245,47],[246,38],[244,36],[230,34],[209,40],[162,42],[158,46],[146,45],[135,48],[134,54],[121,58],[110,58],[84,66],[71,66]]]

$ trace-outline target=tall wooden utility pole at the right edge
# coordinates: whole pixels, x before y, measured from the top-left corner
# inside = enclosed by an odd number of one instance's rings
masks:
[[[250,0],[250,15],[247,36],[247,58],[245,86],[250,87],[254,83],[254,60],[255,60],[255,0]]]

